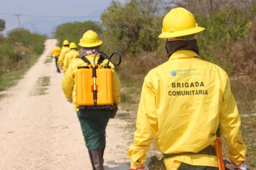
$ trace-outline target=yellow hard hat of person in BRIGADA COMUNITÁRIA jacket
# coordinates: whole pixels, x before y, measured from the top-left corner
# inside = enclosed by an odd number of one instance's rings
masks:
[[[159,38],[173,38],[204,31],[194,15],[185,8],[173,8],[164,16],[162,33]]]

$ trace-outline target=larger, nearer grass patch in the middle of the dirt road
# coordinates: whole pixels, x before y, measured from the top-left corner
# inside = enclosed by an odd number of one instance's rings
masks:
[[[40,96],[48,94],[48,86],[50,85],[50,76],[39,77],[36,81],[34,89],[30,93],[31,96]]]

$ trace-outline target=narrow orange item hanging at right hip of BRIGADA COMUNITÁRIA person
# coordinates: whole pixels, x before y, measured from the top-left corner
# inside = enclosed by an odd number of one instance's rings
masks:
[[[217,136],[217,138],[214,143],[214,149],[215,149],[216,156],[217,156],[218,168],[219,168],[219,170],[225,170],[223,156],[222,156],[222,139],[220,137],[220,127],[218,127],[216,136]]]

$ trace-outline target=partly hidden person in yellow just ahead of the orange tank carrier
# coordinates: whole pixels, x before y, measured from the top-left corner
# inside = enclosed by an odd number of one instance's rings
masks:
[[[76,43],[70,43],[69,45],[70,51],[66,54],[66,57],[64,59],[64,63],[63,63],[63,72],[66,71],[66,69],[68,68],[68,66],[72,63],[73,59],[75,57],[79,56],[79,53],[77,50],[77,45]]]

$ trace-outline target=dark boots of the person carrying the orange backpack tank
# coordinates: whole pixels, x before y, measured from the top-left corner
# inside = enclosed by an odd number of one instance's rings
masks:
[[[103,149],[89,150],[89,156],[93,170],[104,170],[102,158],[103,152]]]

